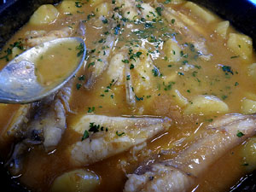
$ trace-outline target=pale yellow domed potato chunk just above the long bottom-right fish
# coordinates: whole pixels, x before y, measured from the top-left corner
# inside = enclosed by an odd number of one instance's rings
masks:
[[[218,99],[217,96],[196,96],[184,110],[186,114],[195,113],[204,115],[228,112],[228,105]]]

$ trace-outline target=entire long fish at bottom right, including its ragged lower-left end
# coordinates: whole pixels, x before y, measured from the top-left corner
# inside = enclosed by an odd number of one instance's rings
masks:
[[[255,134],[255,114],[226,114],[208,125],[201,137],[174,159],[128,175],[124,191],[188,191],[193,187],[193,177],[200,177],[214,161]]]

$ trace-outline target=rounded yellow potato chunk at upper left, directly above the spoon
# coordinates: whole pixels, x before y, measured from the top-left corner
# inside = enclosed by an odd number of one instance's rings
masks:
[[[32,25],[42,25],[54,22],[59,15],[59,11],[52,4],[40,6],[32,15],[29,23]]]

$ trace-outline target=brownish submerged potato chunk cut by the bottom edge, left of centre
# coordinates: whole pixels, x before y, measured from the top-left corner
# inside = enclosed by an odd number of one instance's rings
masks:
[[[95,172],[83,169],[65,172],[55,178],[51,192],[91,192],[101,183]]]

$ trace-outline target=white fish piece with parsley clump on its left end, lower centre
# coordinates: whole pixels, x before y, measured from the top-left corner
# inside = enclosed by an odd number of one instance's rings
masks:
[[[90,134],[92,125],[99,128]],[[170,125],[171,119],[153,116],[84,115],[72,128],[81,135],[81,138],[84,131],[87,131],[90,137],[68,148],[70,160],[74,165],[82,166],[106,159],[166,131]]]

